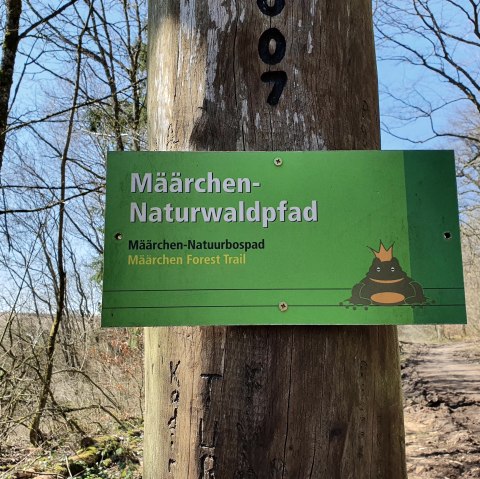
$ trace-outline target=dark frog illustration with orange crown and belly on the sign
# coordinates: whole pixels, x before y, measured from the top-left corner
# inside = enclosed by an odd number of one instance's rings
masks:
[[[349,302],[354,305],[423,305],[427,298],[419,283],[409,278],[398,259],[393,256],[393,244],[387,249],[380,241],[380,248],[369,248],[375,258],[365,278],[352,288]]]

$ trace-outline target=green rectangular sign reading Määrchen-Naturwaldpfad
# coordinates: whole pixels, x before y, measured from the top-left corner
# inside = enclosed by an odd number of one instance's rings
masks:
[[[103,326],[465,322],[452,152],[109,154]]]

